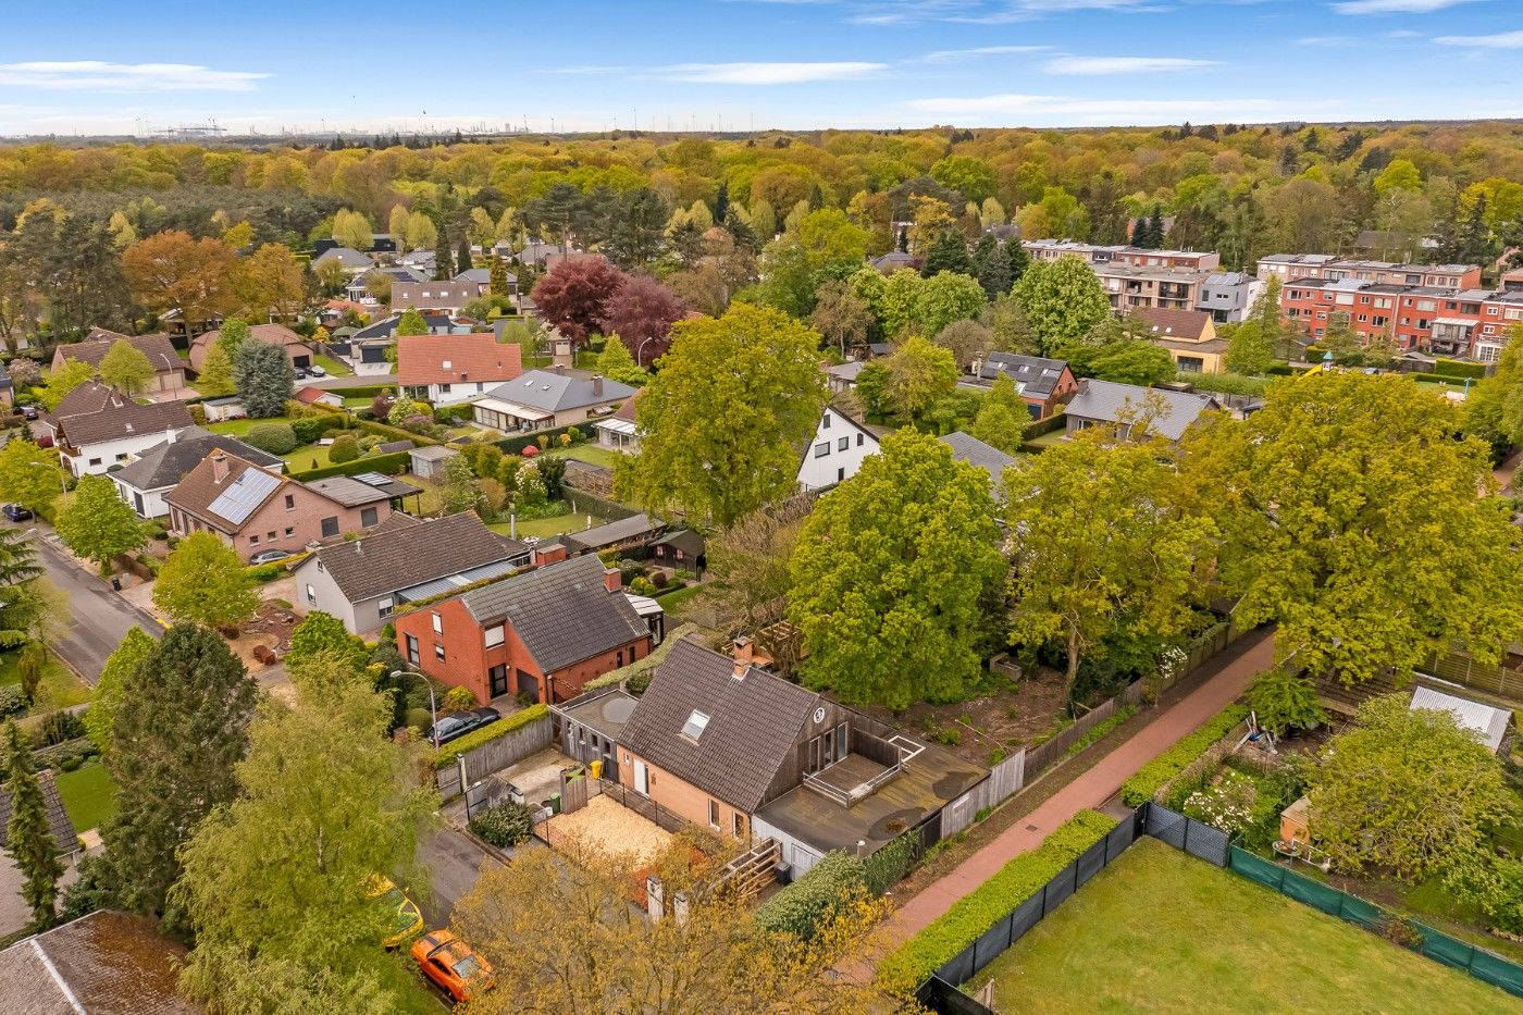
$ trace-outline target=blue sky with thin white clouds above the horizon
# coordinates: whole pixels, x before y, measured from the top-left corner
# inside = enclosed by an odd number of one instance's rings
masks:
[[[1503,116],[1523,0],[59,0],[0,34],[0,134]]]

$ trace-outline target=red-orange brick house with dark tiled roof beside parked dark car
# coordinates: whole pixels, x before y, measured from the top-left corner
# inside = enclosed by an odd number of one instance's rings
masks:
[[[649,655],[655,642],[618,572],[594,555],[419,607],[393,623],[408,663],[483,704],[518,693],[568,701],[594,677]]]

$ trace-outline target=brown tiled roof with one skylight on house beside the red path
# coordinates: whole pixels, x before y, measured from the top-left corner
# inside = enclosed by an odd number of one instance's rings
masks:
[[[678,642],[624,725],[623,745],[725,803],[754,812],[819,695],[751,666],[736,680],[728,655]],[[698,741],[682,727],[708,716]]]

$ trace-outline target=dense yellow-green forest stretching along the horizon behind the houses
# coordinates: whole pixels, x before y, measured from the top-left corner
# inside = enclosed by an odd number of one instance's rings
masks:
[[[143,264],[134,276],[125,253],[160,233],[198,244],[174,244],[181,259],[231,271],[236,256],[245,276],[267,251],[262,280],[219,282],[209,312],[280,306],[314,241],[390,232],[440,253],[574,241],[704,312],[762,276],[777,283],[758,299],[807,317],[844,277],[832,262],[926,256],[1005,224],[1127,242],[1136,219],[1148,245],[1218,250],[1224,267],[1351,253],[1366,230],[1374,256],[1488,264],[1523,245],[1523,125],[18,145],[0,148],[0,334],[142,326],[177,305],[183,291]],[[807,277],[787,282],[793,261]],[[311,274],[306,296],[334,294],[337,279]]]

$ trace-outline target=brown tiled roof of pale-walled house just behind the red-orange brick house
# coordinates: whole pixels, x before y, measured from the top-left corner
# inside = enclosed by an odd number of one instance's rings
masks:
[[[362,602],[527,552],[468,511],[431,521],[393,514],[362,540],[326,546],[314,558],[349,602]]]

